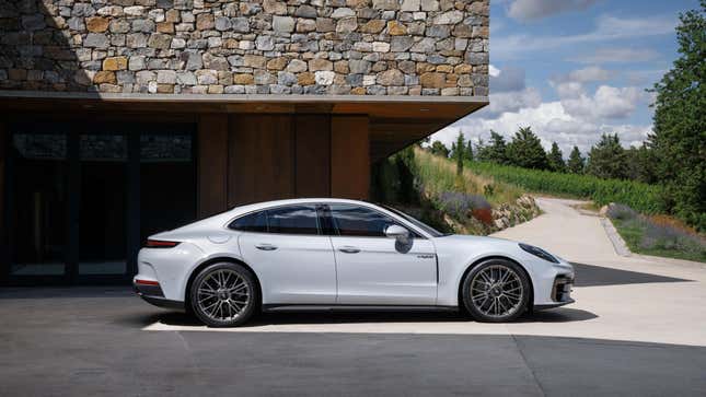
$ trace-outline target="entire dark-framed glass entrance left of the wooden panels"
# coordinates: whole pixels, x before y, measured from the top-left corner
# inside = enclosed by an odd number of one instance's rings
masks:
[[[28,285],[128,282],[147,236],[196,219],[194,129],[11,125],[9,244],[0,252],[8,260],[0,260],[0,279]]]

